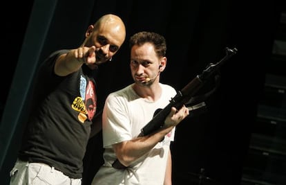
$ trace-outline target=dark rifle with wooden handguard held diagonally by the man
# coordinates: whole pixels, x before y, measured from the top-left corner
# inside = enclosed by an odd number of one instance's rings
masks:
[[[226,48],[226,55],[222,60],[217,62],[216,64],[210,63],[204,71],[191,82],[189,82],[181,91],[171,98],[169,105],[166,105],[164,109],[158,109],[159,112],[155,113],[152,120],[149,121],[141,130],[139,136],[145,136],[155,132],[156,130],[160,129],[164,125],[164,120],[166,116],[171,111],[171,107],[175,107],[176,109],[180,109],[183,105],[189,102],[191,98],[198,92],[198,90],[204,85],[205,82],[209,79],[209,77],[218,69],[220,69],[221,65],[229,60],[232,55],[236,54],[238,50],[236,48],[229,49]],[[114,161],[112,164],[113,168],[116,169],[124,169],[127,168],[126,166],[122,165],[118,159]]]

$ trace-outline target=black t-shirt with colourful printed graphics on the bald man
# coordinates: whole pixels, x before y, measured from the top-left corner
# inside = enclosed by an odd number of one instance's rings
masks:
[[[71,178],[82,178],[97,96],[85,64],[68,76],[55,75],[55,60],[67,52],[52,53],[39,68],[19,159],[45,163]]]

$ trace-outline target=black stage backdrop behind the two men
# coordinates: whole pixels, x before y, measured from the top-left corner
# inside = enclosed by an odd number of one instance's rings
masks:
[[[161,82],[182,89],[210,62],[238,53],[220,70],[220,85],[207,99],[208,111],[178,125],[173,152],[173,184],[240,184],[249,139],[263,94],[265,74],[285,76],[285,63],[271,64],[271,53],[285,1],[20,1],[1,11],[1,182],[17,159],[35,69],[49,53],[76,48],[89,24],[112,12],[126,24],[126,42],[112,62],[96,73],[98,109],[106,96],[133,82],[128,39],[149,30],[166,37],[168,63]],[[5,13],[4,13],[5,12]],[[46,79],[48,80],[48,79]],[[213,88],[213,82],[201,89]],[[64,113],[63,113],[64,114]],[[90,140],[84,184],[102,164],[101,133]],[[204,169],[203,176],[200,170]],[[207,178],[208,177],[208,178]],[[200,184],[199,184],[200,185]]]

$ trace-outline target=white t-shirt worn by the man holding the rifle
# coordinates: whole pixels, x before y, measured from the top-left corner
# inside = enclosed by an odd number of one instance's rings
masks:
[[[102,116],[104,165],[95,175],[93,185],[164,184],[166,163],[175,128],[132,166],[124,170],[117,170],[111,166],[116,159],[111,146],[136,138],[141,129],[151,121],[156,109],[166,107],[175,96],[176,91],[173,87],[161,83],[160,86],[162,96],[155,102],[140,98],[132,89],[132,85],[115,91],[106,98]]]

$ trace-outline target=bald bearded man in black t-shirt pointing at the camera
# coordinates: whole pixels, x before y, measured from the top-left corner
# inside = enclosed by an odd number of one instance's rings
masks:
[[[81,46],[55,51],[39,67],[27,127],[10,171],[12,185],[82,184],[97,113],[92,72],[117,53],[126,28],[120,17],[108,14],[88,26],[85,36]]]

